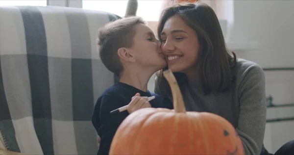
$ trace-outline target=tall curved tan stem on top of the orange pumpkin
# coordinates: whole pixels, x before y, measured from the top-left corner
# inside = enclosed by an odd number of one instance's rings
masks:
[[[185,104],[183,101],[183,96],[182,96],[181,90],[179,88],[179,85],[178,85],[172,71],[170,69],[164,71],[163,76],[169,82],[169,85],[172,90],[172,102],[173,102],[174,111],[185,113],[186,109],[185,109]]]

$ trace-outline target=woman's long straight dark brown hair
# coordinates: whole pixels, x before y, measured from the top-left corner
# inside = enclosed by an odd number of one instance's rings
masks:
[[[162,12],[157,28],[158,38],[166,21],[174,15],[180,16],[188,26],[193,28],[199,40],[200,52],[197,60],[201,89],[204,95],[226,91],[234,79],[237,62],[236,54],[228,52],[221,26],[213,9],[204,3],[175,4]],[[171,97],[171,89],[159,71],[155,79],[155,93]],[[195,71],[196,72],[196,71]],[[180,88],[187,83],[184,73],[174,73]]]

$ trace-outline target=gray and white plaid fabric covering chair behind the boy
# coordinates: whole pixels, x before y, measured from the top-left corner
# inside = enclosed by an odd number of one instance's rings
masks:
[[[0,7],[0,132],[9,151],[94,155],[91,123],[114,82],[96,47],[99,27],[119,17],[66,7]]]

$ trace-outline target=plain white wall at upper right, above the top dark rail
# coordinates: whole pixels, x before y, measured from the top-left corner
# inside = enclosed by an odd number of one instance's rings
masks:
[[[230,41],[258,41],[259,51],[239,52],[262,67],[294,67],[294,0],[234,0]]]

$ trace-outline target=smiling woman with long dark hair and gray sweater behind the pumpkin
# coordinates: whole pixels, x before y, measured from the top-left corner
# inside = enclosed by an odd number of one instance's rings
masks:
[[[259,155],[266,125],[265,75],[256,63],[228,52],[213,9],[203,3],[167,8],[158,37],[187,111],[207,111],[227,119],[240,135],[245,154]],[[172,99],[162,71],[155,93]]]

